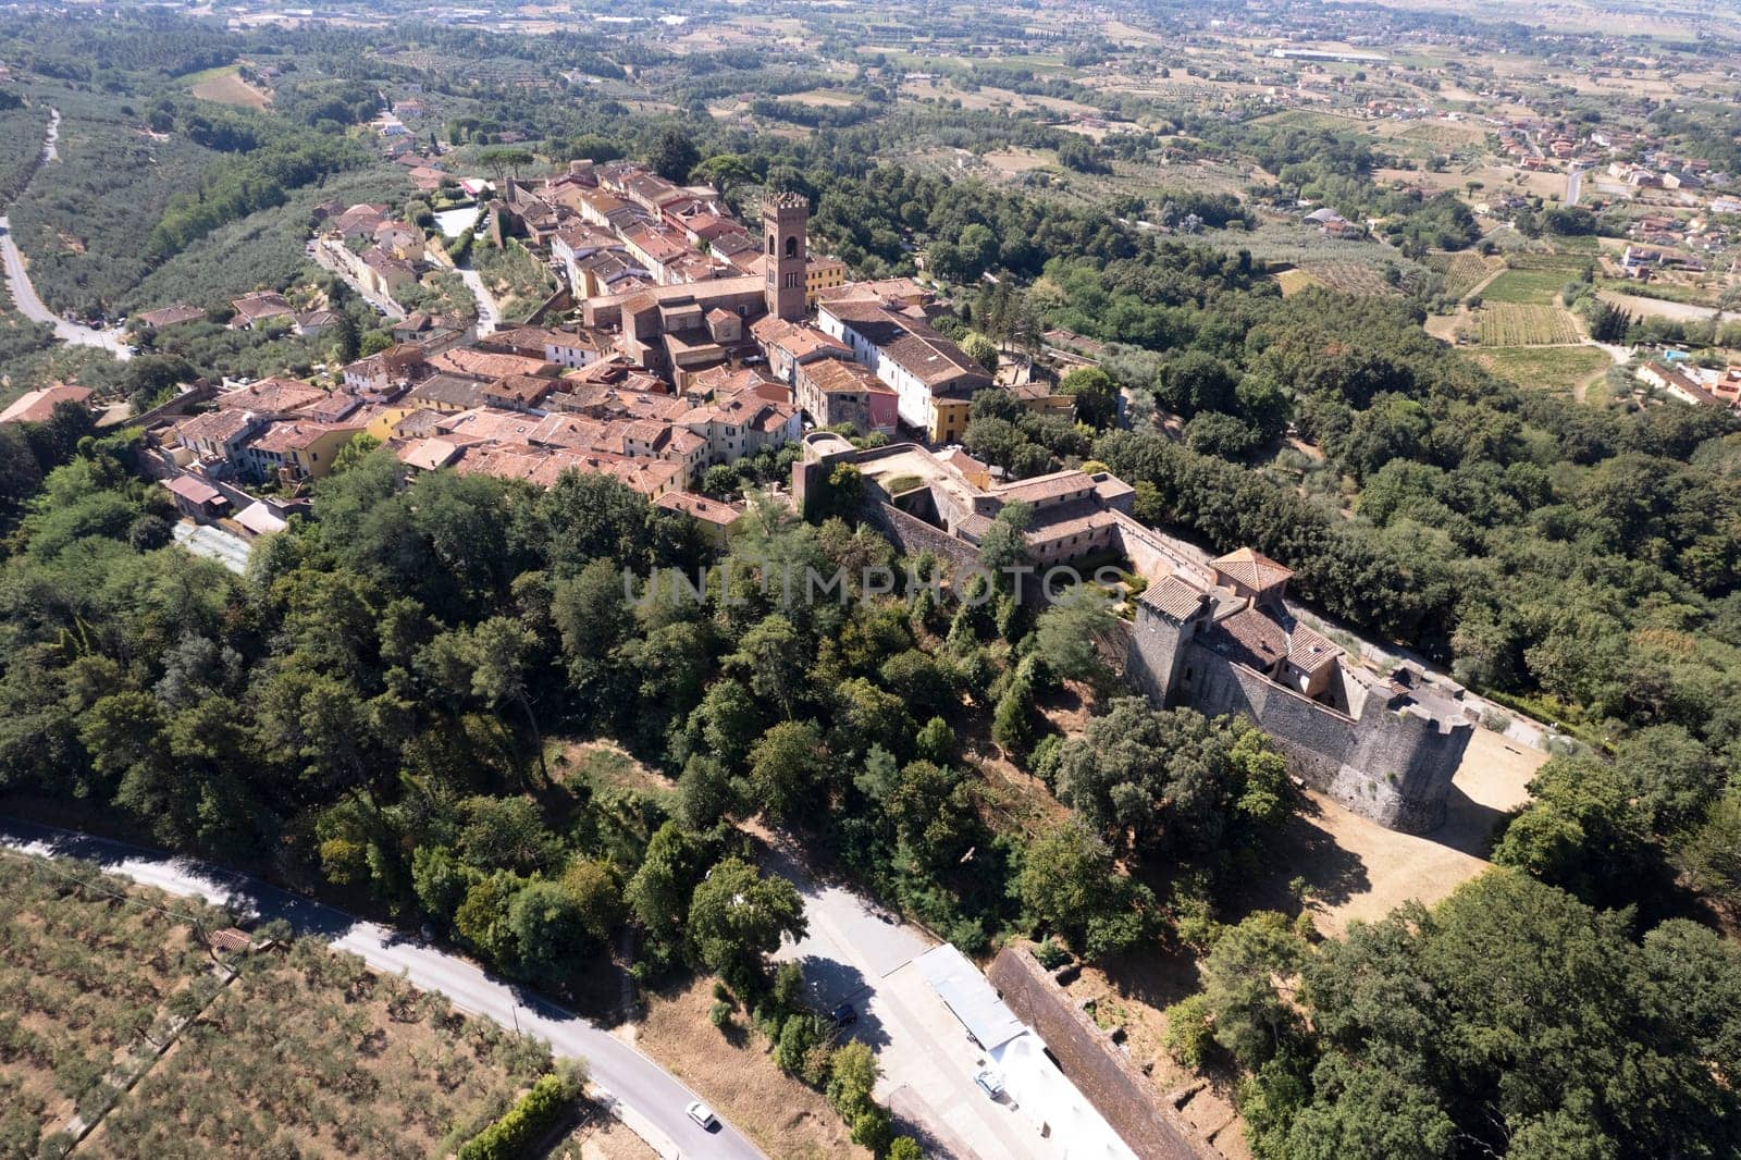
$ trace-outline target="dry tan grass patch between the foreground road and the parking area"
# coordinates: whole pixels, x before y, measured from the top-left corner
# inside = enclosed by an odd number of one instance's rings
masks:
[[[733,1028],[719,1031],[707,1021],[712,1005],[714,982],[705,977],[649,995],[635,1047],[700,1092],[770,1157],[869,1160],[822,1094],[775,1066],[768,1042],[745,1026],[742,1010]]]

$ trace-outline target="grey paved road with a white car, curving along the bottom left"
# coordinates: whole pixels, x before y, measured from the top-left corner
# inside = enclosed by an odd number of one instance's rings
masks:
[[[87,859],[167,894],[200,895],[261,920],[284,918],[301,934],[362,956],[374,970],[402,975],[425,991],[440,991],[460,1010],[548,1040],[557,1055],[585,1059],[594,1085],[616,1103],[623,1123],[662,1157],[759,1160],[763,1155],[728,1123],[714,1132],[691,1123],[682,1109],[695,1094],[608,1031],[399,930],[205,862],[9,817],[0,817],[0,846]]]

